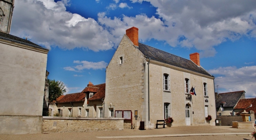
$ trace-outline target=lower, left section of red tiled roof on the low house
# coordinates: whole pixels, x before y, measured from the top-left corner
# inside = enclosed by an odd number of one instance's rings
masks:
[[[63,96],[57,103],[85,101],[85,93],[72,93]]]

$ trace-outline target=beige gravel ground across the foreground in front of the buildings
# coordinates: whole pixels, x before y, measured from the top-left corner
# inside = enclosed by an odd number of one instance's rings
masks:
[[[73,132],[73,133],[49,133],[49,134],[17,134],[17,135],[0,135],[0,140],[251,140],[250,135],[229,135],[229,136],[187,136],[187,137],[147,137],[147,138],[97,138],[97,137],[114,137],[114,136],[135,136],[135,135],[164,135],[164,134],[198,134],[198,133],[251,133],[253,129],[237,129],[230,126],[178,126],[159,128],[153,130],[132,130],[124,129],[122,131],[99,131],[99,132]]]

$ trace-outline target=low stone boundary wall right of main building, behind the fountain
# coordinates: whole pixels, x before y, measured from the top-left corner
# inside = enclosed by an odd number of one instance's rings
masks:
[[[217,116],[221,119],[222,126],[232,126],[232,121],[243,121],[242,116]]]

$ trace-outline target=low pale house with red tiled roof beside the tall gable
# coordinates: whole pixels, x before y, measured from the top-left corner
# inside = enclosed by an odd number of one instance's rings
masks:
[[[63,117],[103,118],[105,87],[105,83],[89,82],[81,93],[60,96],[49,106],[52,116],[59,113]]]

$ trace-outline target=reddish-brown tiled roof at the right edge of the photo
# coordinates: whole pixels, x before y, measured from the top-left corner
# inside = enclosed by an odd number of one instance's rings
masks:
[[[236,115],[240,115],[244,110],[246,112],[252,110],[256,113],[256,98],[241,99],[234,109],[242,109],[240,112],[236,113]]]

